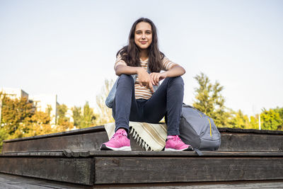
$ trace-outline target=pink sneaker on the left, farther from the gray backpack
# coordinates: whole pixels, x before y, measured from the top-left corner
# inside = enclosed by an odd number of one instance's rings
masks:
[[[125,130],[117,130],[113,137],[103,144],[100,150],[131,151],[131,144]]]

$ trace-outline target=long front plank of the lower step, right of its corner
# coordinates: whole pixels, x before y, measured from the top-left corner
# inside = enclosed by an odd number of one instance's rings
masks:
[[[95,184],[283,179],[282,158],[95,157]]]

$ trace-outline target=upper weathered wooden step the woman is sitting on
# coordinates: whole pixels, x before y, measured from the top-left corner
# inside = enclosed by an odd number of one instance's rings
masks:
[[[283,132],[219,128],[219,151],[283,151]],[[88,127],[69,132],[5,140],[2,153],[24,151],[63,151],[64,149],[99,149],[108,141],[103,126]],[[133,151],[142,149],[131,136]]]

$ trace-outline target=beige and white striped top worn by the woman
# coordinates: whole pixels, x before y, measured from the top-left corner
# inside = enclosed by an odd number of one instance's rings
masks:
[[[143,67],[145,70],[147,70],[147,62],[149,59],[145,59],[145,60],[141,60],[141,67]],[[117,56],[116,62],[115,62],[115,66],[114,69],[117,67],[117,65],[125,65],[127,66],[126,62],[124,60],[121,59],[121,55]],[[173,66],[178,65],[175,64],[174,62],[172,62],[170,59],[168,59],[167,57],[164,57],[162,59],[162,70],[163,71],[168,71],[169,69],[171,69]],[[152,92],[150,91],[149,88],[146,88],[146,86],[140,86],[139,85],[139,78],[136,79],[136,82],[134,83],[134,94],[136,99],[149,99],[152,96]]]

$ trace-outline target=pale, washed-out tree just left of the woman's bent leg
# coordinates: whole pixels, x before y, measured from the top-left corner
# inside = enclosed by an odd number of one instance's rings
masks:
[[[104,125],[108,122],[115,122],[112,118],[112,109],[105,105],[105,100],[114,84],[113,80],[105,79],[104,86],[101,92],[96,96],[96,104],[98,105],[97,121],[96,125]]]

